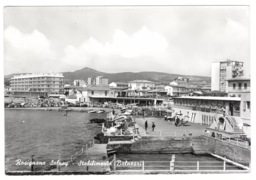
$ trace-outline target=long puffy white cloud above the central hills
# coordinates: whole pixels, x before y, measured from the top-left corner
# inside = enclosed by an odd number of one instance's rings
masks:
[[[65,56],[62,61],[73,64],[74,61],[80,65],[90,65],[91,60],[97,57],[110,57],[117,55],[123,58],[136,58],[143,56],[157,57],[164,53],[168,42],[164,36],[157,32],[151,32],[145,26],[141,30],[128,36],[122,30],[116,30],[112,43],[105,45],[90,37],[78,48],[68,45],[65,48]]]

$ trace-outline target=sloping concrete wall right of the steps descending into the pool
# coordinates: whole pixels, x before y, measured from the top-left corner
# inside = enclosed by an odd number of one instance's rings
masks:
[[[229,142],[202,135],[211,152],[235,162],[251,161],[251,150]]]

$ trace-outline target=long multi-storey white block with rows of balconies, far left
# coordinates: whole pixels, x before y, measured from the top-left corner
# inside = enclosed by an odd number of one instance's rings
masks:
[[[11,78],[10,86],[14,95],[62,95],[64,94],[64,76],[61,73],[15,75]]]

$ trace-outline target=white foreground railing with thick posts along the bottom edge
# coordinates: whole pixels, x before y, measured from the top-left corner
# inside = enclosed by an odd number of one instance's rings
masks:
[[[229,163],[228,165],[226,163]],[[238,163],[243,163],[243,164],[238,164]],[[147,165],[148,164],[148,165]],[[159,164],[159,165],[156,165]],[[160,165],[161,164],[161,165]],[[188,165],[189,164],[189,165]],[[232,165],[230,165],[232,164]],[[216,171],[226,171],[227,167],[240,167],[243,168],[244,170],[250,170],[251,169],[251,162],[230,162],[229,160],[226,160],[226,157],[224,158],[224,162],[220,161],[208,161],[208,162],[203,162],[203,161],[176,161],[175,162],[175,155],[172,155],[172,160],[170,161],[133,161],[133,162],[127,162],[127,161],[121,161],[121,160],[116,160],[116,155],[114,155],[114,160],[113,160],[113,170],[114,171],[125,171],[125,170],[116,170],[116,167],[121,168],[121,167],[138,167],[144,171],[145,168],[150,167],[150,171],[152,170],[152,167],[158,168],[163,168],[166,169],[166,171],[177,171],[177,170],[184,170],[184,171],[208,171],[213,168],[219,168]]]

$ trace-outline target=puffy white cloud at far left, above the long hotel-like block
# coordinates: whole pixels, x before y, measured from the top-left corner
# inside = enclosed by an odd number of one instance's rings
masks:
[[[43,61],[56,57],[50,41],[38,30],[24,34],[17,28],[9,26],[4,30],[4,43],[6,61]]]

